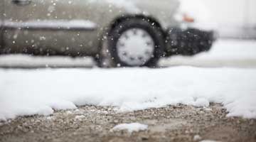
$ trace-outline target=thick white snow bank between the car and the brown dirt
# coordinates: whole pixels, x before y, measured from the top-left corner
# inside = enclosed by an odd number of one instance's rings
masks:
[[[133,111],[223,103],[228,116],[256,118],[256,69],[0,70],[0,119],[93,104]]]

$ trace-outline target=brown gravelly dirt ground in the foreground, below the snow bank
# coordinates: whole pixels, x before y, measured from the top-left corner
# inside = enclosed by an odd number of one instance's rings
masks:
[[[256,119],[228,118],[226,114],[220,104],[132,112],[85,106],[55,111],[51,116],[18,117],[1,122],[0,141],[256,141]],[[134,122],[147,124],[149,129],[133,133],[110,131],[117,124]]]

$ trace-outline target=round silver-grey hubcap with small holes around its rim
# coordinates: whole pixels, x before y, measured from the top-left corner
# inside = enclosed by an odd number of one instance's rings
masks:
[[[120,36],[117,41],[119,59],[131,66],[144,65],[154,56],[154,40],[141,28],[132,28]]]

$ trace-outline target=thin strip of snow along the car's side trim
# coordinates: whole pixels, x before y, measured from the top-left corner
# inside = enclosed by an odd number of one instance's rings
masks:
[[[26,21],[14,22],[4,21],[4,26],[10,28],[75,28],[75,29],[94,29],[97,27],[96,23],[87,20],[48,20],[48,21]]]

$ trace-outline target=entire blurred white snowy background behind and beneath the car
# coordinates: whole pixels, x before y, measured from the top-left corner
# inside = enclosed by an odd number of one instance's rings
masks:
[[[139,0],[138,0],[139,1]],[[178,15],[193,22],[187,26],[216,31],[211,50],[192,57],[163,58],[163,67],[256,67],[256,0],[178,0]],[[161,2],[161,1],[159,1]],[[42,58],[27,55],[0,56],[0,67],[94,67],[91,58]]]

